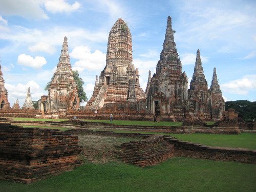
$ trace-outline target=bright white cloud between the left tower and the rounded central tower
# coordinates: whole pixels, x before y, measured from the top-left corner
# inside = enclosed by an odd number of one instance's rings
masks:
[[[70,57],[79,59],[74,63],[73,69],[79,72],[87,69],[89,71],[99,71],[105,66],[106,54],[99,50],[94,53],[86,46],[77,46],[70,53]]]

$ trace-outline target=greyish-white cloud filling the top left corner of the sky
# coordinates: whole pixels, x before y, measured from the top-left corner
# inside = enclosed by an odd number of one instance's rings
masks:
[[[0,12],[2,15],[18,15],[29,19],[49,19],[41,8],[43,1],[28,0],[1,0]]]

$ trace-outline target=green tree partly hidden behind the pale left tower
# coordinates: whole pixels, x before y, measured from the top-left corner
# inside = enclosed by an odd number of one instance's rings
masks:
[[[84,92],[82,87],[84,84],[84,81],[82,80],[81,77],[79,77],[79,72],[77,70],[73,71],[73,77],[74,77],[74,80],[76,81],[76,87],[78,88],[78,97],[79,97],[80,103],[88,101],[86,93]],[[49,90],[53,79],[54,79],[54,76],[52,77],[51,81],[47,83],[45,87],[45,91]]]

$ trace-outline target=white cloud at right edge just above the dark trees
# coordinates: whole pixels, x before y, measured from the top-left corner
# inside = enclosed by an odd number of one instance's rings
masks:
[[[246,95],[249,91],[256,90],[256,75],[246,75],[241,79],[221,84],[220,88],[228,93]]]

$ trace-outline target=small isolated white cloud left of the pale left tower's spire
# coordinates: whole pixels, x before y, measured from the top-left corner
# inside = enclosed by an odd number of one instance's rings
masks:
[[[35,69],[41,68],[46,65],[47,61],[45,57],[36,56],[33,58],[30,55],[21,54],[18,56],[17,64],[21,66],[32,67]]]

